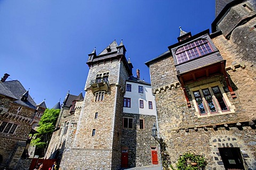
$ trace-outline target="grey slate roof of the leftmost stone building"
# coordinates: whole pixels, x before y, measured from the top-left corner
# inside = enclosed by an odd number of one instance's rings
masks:
[[[12,80],[0,83],[0,94],[16,99],[13,103],[36,109],[36,103],[22,86],[20,81]],[[21,95],[28,96],[27,101],[22,101]]]

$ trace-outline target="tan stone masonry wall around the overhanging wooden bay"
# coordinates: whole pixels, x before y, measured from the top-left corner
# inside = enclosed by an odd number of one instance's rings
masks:
[[[255,169],[255,126],[249,126],[246,123],[246,121],[255,120],[256,117],[256,92],[254,90],[256,70],[252,62],[255,60],[247,58],[250,55],[247,56],[244,55],[246,53],[241,53],[243,45],[238,48],[239,41],[237,40],[237,44],[235,44],[233,43],[234,39],[227,40],[221,35],[212,38],[212,41],[219,49],[223,59],[226,60],[229,80],[237,98],[231,98],[222,75],[186,84],[186,90],[189,92],[188,90],[191,87],[219,81],[224,85],[223,89],[231,105],[235,106],[235,113],[197,117],[195,115],[195,107],[197,106],[194,106],[188,93],[191,108],[187,107],[185,95],[179,84],[170,88],[163,87],[165,85],[164,79],[166,84],[178,81],[170,78],[171,76],[175,78],[176,72],[172,67],[172,62],[165,58],[150,65],[151,83],[154,84],[153,92],[156,88],[161,89],[155,93],[159,133],[168,145],[173,163],[177,162],[180,154],[189,151],[204,155],[208,162],[207,169],[223,169],[218,148],[239,147],[245,167]],[[245,58],[247,59],[245,60]],[[170,59],[171,57],[169,57]],[[166,75],[166,68],[169,69],[168,73],[170,75]],[[243,128],[236,128],[236,122],[241,122]],[[223,125],[226,123],[231,126],[229,129],[224,128]],[[216,124],[218,125],[217,131],[212,129],[213,125]],[[203,129],[203,126],[207,131]],[[195,131],[194,128],[198,128],[198,131]]]

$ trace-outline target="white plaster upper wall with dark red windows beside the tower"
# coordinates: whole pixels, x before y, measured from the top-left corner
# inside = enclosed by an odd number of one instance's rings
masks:
[[[130,81],[126,81],[126,84],[132,84],[132,90],[125,91],[124,95],[124,97],[131,98],[131,107],[124,107],[123,112],[156,116],[156,101],[151,86]],[[143,94],[139,93],[139,86],[143,86]],[[144,108],[140,108],[140,100],[144,101]],[[152,101],[153,109],[148,108],[148,101]]]

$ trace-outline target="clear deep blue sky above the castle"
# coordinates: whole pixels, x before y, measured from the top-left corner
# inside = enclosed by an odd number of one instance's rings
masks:
[[[52,108],[67,91],[84,94],[87,54],[121,39],[133,73],[177,43],[179,26],[195,35],[211,28],[214,0],[0,0],[0,76],[19,80],[38,104]]]

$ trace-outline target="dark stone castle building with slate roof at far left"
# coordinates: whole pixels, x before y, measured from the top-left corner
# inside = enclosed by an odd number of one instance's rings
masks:
[[[29,157],[26,142],[46,105],[36,104],[18,80],[6,81],[8,77],[5,73],[0,81],[0,169],[20,169],[22,163],[30,164],[22,159]]]

